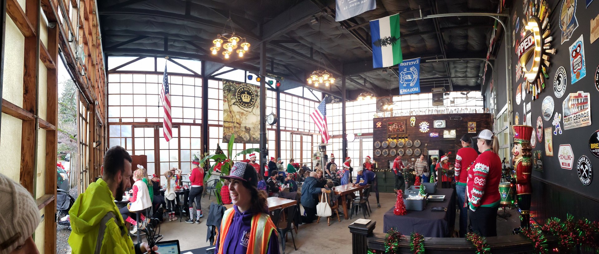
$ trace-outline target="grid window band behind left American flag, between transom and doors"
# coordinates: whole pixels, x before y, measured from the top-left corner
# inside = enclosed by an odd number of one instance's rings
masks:
[[[202,79],[169,75],[173,123],[201,123]],[[109,122],[159,122],[162,75],[108,75]]]

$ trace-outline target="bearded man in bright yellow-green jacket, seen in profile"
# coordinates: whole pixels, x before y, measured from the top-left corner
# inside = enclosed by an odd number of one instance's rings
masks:
[[[101,173],[102,178],[91,183],[69,211],[72,253],[148,252],[147,243],[133,244],[113,201],[123,200],[125,189],[131,187],[131,156],[121,146],[113,146],[104,154]]]

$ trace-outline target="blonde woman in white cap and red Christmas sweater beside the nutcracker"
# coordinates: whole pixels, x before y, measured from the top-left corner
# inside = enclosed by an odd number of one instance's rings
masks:
[[[497,206],[500,201],[501,160],[497,155],[499,142],[490,130],[482,130],[476,137],[482,154],[468,170],[466,194],[468,216],[474,232],[483,237],[497,236]]]

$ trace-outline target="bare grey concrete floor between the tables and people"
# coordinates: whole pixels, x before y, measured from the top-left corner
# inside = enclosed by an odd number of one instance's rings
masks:
[[[376,199],[371,196],[373,206],[371,216],[367,219],[372,219],[377,222],[377,227],[374,232],[383,232],[383,215],[392,206],[395,205],[396,196],[392,193],[380,193],[381,208],[376,208]],[[208,207],[210,202],[215,202],[216,199],[208,196],[202,198],[202,207]],[[499,235],[509,235],[512,233],[512,228],[519,225],[518,212],[509,210],[512,216],[508,221],[498,219],[497,232]],[[204,210],[204,215],[208,215],[208,211]],[[326,226],[326,220],[320,219],[320,223],[316,221],[312,224],[299,225],[298,234],[294,235],[295,245],[298,250],[294,250],[291,241],[291,235],[288,235],[286,243],[286,253],[351,253],[352,251],[352,235],[347,228],[356,219],[363,218],[361,215],[353,216],[351,220],[344,220],[341,216],[341,222],[335,218],[331,221],[331,226]],[[456,224],[459,219],[459,213],[456,214]],[[204,224],[205,218],[202,218],[202,224],[187,224],[183,221],[165,222],[161,225],[161,233],[164,235],[163,240],[179,240],[181,250],[190,250],[200,247],[209,246],[206,241],[207,227]],[[134,240],[135,241],[135,240]]]

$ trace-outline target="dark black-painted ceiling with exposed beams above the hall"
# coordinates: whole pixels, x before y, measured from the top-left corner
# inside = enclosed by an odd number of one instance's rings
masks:
[[[434,19],[406,19],[418,17],[420,10],[424,16],[496,13],[498,1],[377,0],[375,10],[344,22],[334,21],[334,6],[334,0],[103,0],[98,11],[107,56],[171,56],[224,63],[222,55],[212,56],[208,49],[218,33],[231,32],[232,26],[252,44],[243,60],[226,61],[233,67],[256,71],[259,44],[265,41],[268,72],[299,85],[317,65],[324,65],[334,76],[349,76],[348,90],[368,89],[380,96],[397,89],[398,80],[391,70],[372,69],[369,20],[400,13],[404,59],[485,58],[491,18],[445,17],[437,24]],[[312,17],[319,22],[312,24]],[[482,61],[422,63],[421,84],[478,90],[483,67]]]

